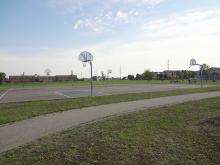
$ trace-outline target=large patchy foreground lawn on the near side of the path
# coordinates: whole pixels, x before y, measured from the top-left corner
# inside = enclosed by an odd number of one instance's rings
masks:
[[[73,128],[0,154],[0,164],[220,164],[220,98]]]

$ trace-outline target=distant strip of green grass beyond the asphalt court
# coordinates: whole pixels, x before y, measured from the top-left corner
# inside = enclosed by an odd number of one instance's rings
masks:
[[[169,84],[170,80],[106,80],[94,81],[94,85],[114,85],[114,84]],[[188,83],[180,81],[179,84]],[[200,84],[198,81],[197,84]],[[206,84],[204,82],[204,84]],[[210,85],[220,85],[218,82],[207,82]],[[48,82],[48,83],[8,83],[1,84],[0,90],[10,88],[37,88],[37,87],[63,87],[63,86],[89,86],[90,81],[73,81],[73,82]]]

